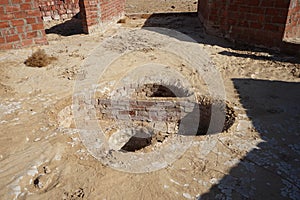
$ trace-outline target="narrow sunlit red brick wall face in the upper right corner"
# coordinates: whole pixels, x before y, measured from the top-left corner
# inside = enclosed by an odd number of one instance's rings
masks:
[[[284,38],[300,39],[300,0],[291,0]]]

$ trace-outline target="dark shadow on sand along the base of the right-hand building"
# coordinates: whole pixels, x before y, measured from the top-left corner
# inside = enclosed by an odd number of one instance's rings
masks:
[[[300,58],[285,55],[274,50],[266,48],[258,48],[249,45],[233,43],[225,40],[224,38],[218,38],[205,33],[205,29],[201,24],[198,14],[193,12],[187,13],[155,13],[147,17],[147,20],[143,28],[147,27],[163,27],[173,29],[188,35],[196,42],[207,45],[217,45],[224,48],[230,48],[233,50],[239,50],[239,53],[221,52],[222,55],[238,56],[244,58],[251,58],[257,60],[271,60],[280,62],[300,63]],[[179,38],[178,38],[179,39]],[[300,45],[298,45],[300,48]],[[249,52],[266,52],[270,56],[257,56],[251,55]]]

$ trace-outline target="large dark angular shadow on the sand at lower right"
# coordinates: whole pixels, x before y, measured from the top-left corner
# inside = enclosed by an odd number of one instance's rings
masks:
[[[264,142],[200,199],[299,199],[300,83],[232,81]]]

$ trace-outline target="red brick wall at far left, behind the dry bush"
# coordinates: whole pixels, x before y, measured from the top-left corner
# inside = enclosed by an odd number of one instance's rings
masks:
[[[0,49],[46,43],[35,0],[0,0]]]

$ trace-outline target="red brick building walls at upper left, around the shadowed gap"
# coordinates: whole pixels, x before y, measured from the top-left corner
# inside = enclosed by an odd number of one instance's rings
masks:
[[[71,18],[79,5],[84,31],[91,33],[117,21],[125,0],[0,0],[0,49],[47,44],[43,19]]]

